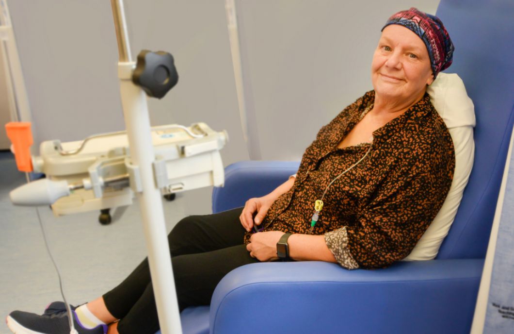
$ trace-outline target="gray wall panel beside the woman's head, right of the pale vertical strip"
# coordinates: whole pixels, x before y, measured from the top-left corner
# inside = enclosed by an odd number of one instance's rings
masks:
[[[262,158],[300,160],[321,126],[372,89],[371,60],[388,17],[410,7],[433,14],[438,3],[240,1],[246,94]]]

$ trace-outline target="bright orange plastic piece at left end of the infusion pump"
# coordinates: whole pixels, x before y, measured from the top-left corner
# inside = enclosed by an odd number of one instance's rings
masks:
[[[16,166],[24,172],[31,172],[32,156],[30,146],[33,143],[30,122],[9,122],[5,125],[7,136],[14,147]]]

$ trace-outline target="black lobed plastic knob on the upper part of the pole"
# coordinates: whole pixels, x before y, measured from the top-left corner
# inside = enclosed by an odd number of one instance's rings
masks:
[[[169,52],[142,50],[137,55],[137,64],[132,81],[146,95],[162,98],[178,82],[177,69]]]

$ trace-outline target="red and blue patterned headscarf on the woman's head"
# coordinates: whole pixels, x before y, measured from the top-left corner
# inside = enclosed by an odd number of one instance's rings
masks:
[[[399,24],[408,28],[425,43],[434,79],[439,72],[450,67],[455,47],[443,22],[437,16],[421,12],[412,7],[389,17],[382,30],[391,24]]]

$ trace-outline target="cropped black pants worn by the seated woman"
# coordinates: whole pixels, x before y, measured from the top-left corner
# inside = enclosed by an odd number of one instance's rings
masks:
[[[180,311],[209,305],[214,288],[227,273],[259,262],[243,243],[242,209],[186,217],[168,235]],[[120,333],[154,334],[159,329],[148,259],[103,299],[109,312],[120,319]]]

